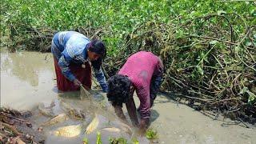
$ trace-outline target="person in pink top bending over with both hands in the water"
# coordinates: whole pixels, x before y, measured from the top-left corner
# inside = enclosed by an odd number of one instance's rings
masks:
[[[133,125],[145,131],[150,123],[150,107],[162,83],[162,74],[163,65],[158,56],[146,51],[131,55],[118,74],[108,80],[107,98],[112,102],[118,117],[126,120],[122,111],[122,103],[126,103]],[[140,100],[140,106],[138,106],[140,122],[138,122],[134,104],[134,90]]]

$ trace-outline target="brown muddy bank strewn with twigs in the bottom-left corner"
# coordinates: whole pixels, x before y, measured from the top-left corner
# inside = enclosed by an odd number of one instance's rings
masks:
[[[30,122],[30,111],[0,108],[0,142],[2,143],[44,143],[42,129],[35,130]]]

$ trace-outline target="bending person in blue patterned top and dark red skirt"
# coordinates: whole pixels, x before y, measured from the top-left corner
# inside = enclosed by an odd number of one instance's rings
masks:
[[[107,91],[106,78],[102,72],[102,58],[106,46],[99,40],[90,41],[75,31],[61,31],[54,34],[51,44],[58,90],[79,90],[80,85],[91,87],[91,65],[94,67],[102,90]]]

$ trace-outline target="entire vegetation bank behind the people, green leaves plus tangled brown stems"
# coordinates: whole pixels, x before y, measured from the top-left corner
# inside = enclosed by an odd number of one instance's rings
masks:
[[[212,0],[1,2],[3,44],[50,50],[58,30],[106,42],[109,78],[130,54],[149,50],[165,65],[162,90],[239,121],[256,122],[256,3]]]

